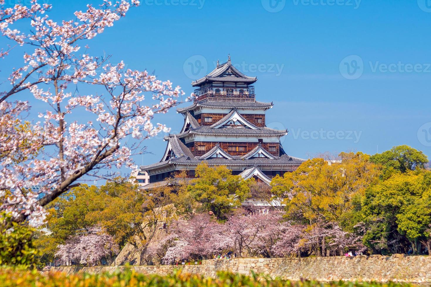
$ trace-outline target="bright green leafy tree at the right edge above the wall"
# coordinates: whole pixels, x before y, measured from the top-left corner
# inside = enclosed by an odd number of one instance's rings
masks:
[[[394,173],[389,179],[367,190],[363,214],[368,222],[380,222],[382,232],[367,236],[364,243],[396,241],[402,245],[404,236],[414,253],[419,252],[419,241],[429,236],[431,224],[431,171],[416,170]],[[397,252],[388,246],[390,253]],[[406,252],[407,247],[402,250]]]

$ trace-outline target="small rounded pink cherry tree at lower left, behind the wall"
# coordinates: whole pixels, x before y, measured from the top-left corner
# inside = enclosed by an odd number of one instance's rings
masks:
[[[56,257],[61,261],[84,265],[96,265],[101,259],[119,252],[112,236],[103,232],[100,227],[89,228],[69,238],[58,248]]]

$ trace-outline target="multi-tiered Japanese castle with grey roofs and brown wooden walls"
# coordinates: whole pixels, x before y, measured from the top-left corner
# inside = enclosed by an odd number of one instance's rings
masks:
[[[193,81],[193,105],[177,108],[184,116],[178,134],[169,134],[162,159],[141,166],[150,175],[151,186],[178,177],[185,171],[195,177],[195,168],[206,162],[211,167],[224,165],[244,179],[253,177],[269,185],[272,177],[296,170],[305,160],[293,157],[281,146],[287,130],[265,125],[265,113],[272,102],[258,102],[249,77],[228,61],[219,64],[205,77]]]

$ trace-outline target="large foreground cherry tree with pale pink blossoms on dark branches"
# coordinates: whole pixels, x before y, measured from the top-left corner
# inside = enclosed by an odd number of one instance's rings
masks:
[[[103,169],[134,168],[132,156],[142,152],[140,141],[169,131],[152,120],[178,104],[184,95],[179,86],[87,52],[87,42],[138,4],[105,0],[99,7],[76,11],[75,19],[57,23],[46,15],[50,5],[32,0],[31,7],[8,8],[0,0],[3,38],[34,51],[24,53],[20,68],[11,68],[10,86],[0,89],[0,137],[6,139],[0,141],[0,210],[12,213],[16,221],[40,225],[44,206],[79,185],[83,176],[100,178]],[[27,33],[13,29],[23,19],[30,20]],[[10,52],[9,45],[0,54]],[[87,86],[96,92],[85,93]],[[24,97],[18,95],[28,93],[32,99],[19,100]],[[46,110],[18,132],[35,101],[44,103]],[[28,190],[31,185],[44,188],[34,192]],[[38,199],[40,193],[45,195]]]

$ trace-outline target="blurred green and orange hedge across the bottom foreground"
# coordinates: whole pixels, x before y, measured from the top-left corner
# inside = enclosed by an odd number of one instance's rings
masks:
[[[228,286],[289,286],[289,287],[401,287],[410,286],[408,284],[379,284],[379,283],[352,283],[352,282],[334,282],[331,284],[319,284],[314,281],[290,282],[285,280],[271,280],[269,278],[259,278],[257,275],[248,277],[244,275],[235,275],[232,273],[219,273],[218,278],[205,278],[200,275],[191,275],[177,272],[173,275],[144,275],[133,270],[124,272],[114,272],[112,274],[103,273],[91,275],[87,273],[76,273],[65,275],[61,272],[49,272],[41,274],[33,270],[19,270],[12,268],[0,269],[0,286],[34,286],[34,287],[53,287],[53,286],[80,286],[80,287],[123,287],[123,286],[154,286],[154,287],[228,287]]]

